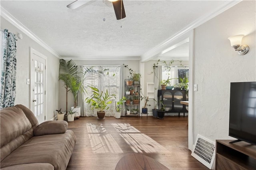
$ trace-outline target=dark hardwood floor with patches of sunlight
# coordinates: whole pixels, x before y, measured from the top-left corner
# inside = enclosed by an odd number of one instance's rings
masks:
[[[114,170],[128,153],[142,153],[171,170],[208,170],[188,150],[188,117],[80,117],[68,123],[77,140],[67,170]]]

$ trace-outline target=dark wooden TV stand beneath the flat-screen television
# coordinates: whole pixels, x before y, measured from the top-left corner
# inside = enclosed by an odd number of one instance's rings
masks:
[[[256,170],[256,145],[216,140],[216,170]]]

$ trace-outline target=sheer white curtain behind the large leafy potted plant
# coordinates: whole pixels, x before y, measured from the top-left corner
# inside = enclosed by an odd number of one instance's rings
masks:
[[[94,87],[97,87],[100,91],[106,92],[108,90],[109,94],[115,94],[116,100],[122,97],[122,83],[121,83],[121,66],[84,66],[92,67],[96,70],[105,70],[104,76],[86,81],[85,89],[87,93],[84,93],[84,99],[92,95],[92,90],[88,86],[88,83]],[[110,104],[110,109],[106,110],[106,116],[114,116],[115,114],[115,99],[112,98],[112,104]],[[90,104],[83,102],[83,116],[97,116],[97,110],[92,110]]]

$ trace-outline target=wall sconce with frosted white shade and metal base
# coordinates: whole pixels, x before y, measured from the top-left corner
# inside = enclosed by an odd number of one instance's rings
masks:
[[[244,35],[237,35],[228,38],[228,40],[230,40],[231,46],[235,49],[235,51],[237,51],[239,55],[244,55],[249,51],[248,45],[241,45],[243,37]]]

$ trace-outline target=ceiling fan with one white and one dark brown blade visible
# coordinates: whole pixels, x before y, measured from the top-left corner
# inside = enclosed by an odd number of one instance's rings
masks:
[[[113,6],[114,6],[114,10],[116,13],[116,19],[120,20],[126,17],[125,15],[125,11],[124,11],[124,4],[123,4],[123,0],[109,0],[112,2]],[[67,5],[68,8],[70,9],[76,9],[84,4],[86,4],[86,1],[83,0],[76,0],[74,2],[72,2],[71,4]]]

